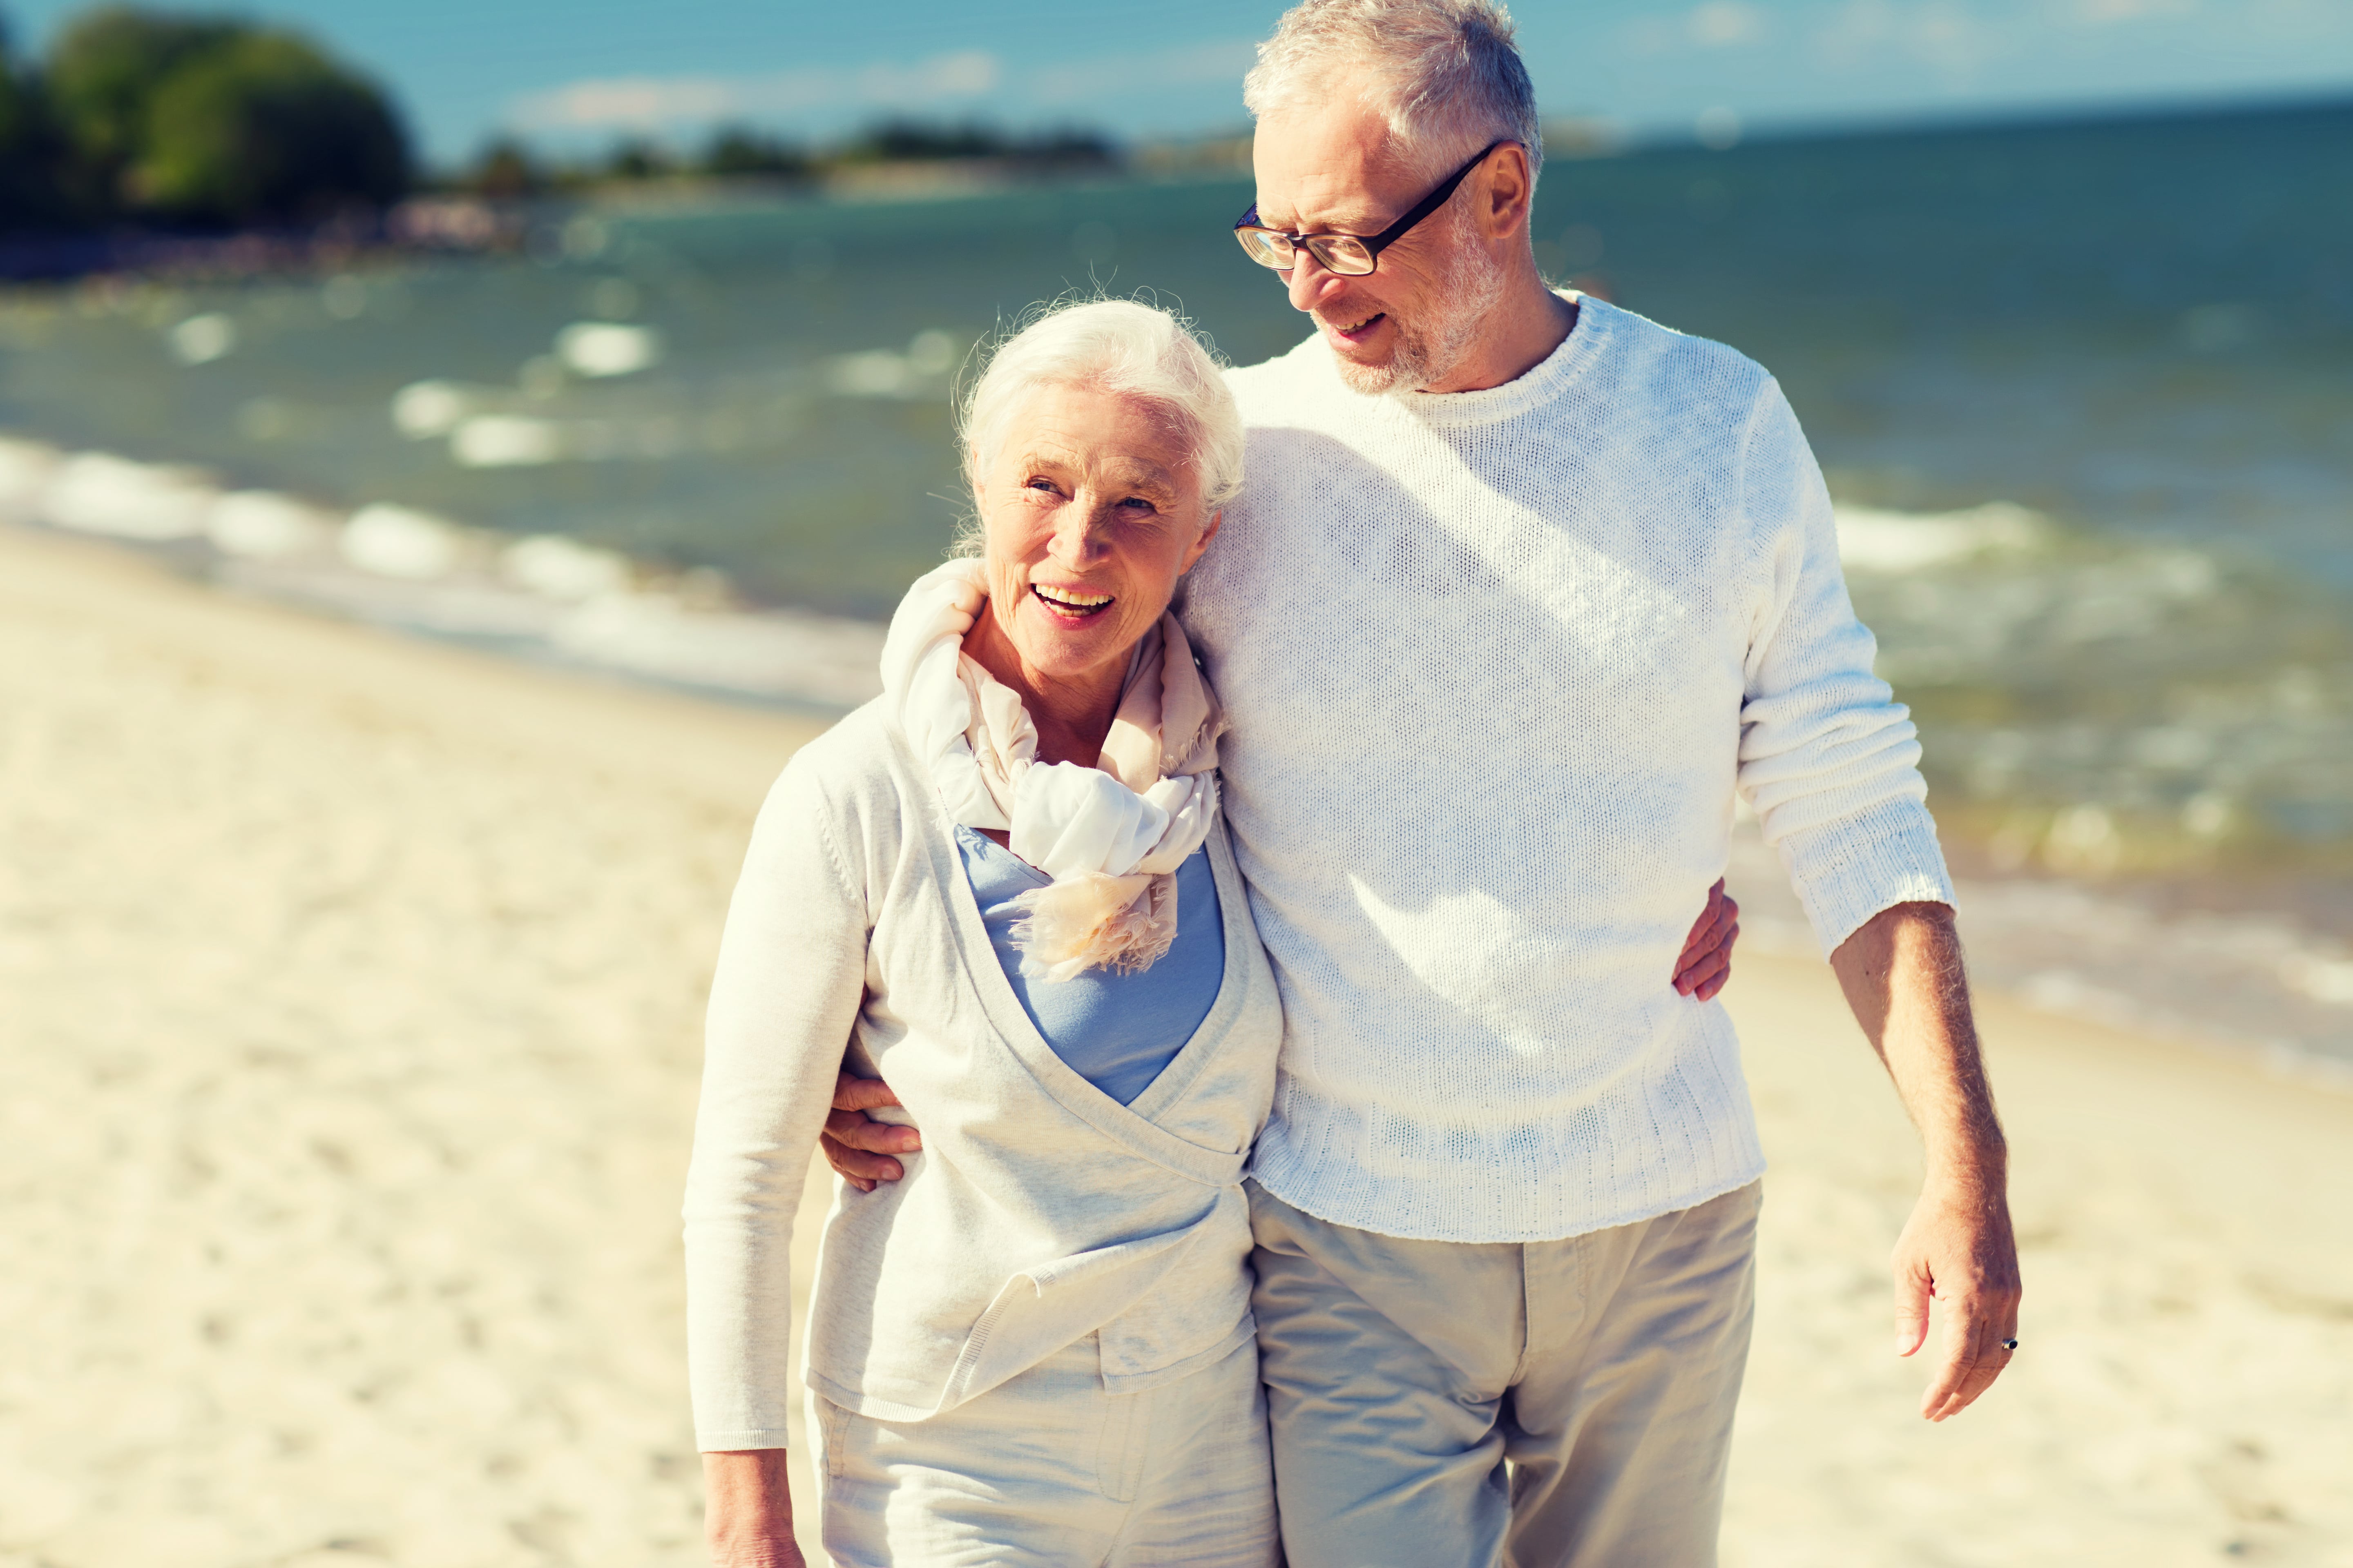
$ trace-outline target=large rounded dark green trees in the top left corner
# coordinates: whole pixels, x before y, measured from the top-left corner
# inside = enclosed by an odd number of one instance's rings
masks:
[[[407,183],[386,94],[299,33],[111,5],[28,61],[0,31],[0,233],[320,223]]]

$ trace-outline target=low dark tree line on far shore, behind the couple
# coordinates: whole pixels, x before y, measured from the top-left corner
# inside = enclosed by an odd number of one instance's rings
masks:
[[[1054,129],[1009,134],[991,125],[927,125],[885,120],[849,141],[812,146],[744,125],[722,125],[694,150],[628,136],[598,158],[541,158],[525,141],[501,136],[485,146],[454,186],[489,197],[525,197],[614,181],[758,179],[814,181],[835,169],[887,162],[1000,162],[1021,172],[1108,169],[1118,148],[1099,132]]]

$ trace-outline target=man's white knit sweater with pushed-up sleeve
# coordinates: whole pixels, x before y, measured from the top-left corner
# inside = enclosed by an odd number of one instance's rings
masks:
[[[1755,1180],[1732,1023],[1671,987],[1734,790],[1824,952],[1953,896],[1781,388],[1593,299],[1482,393],[1362,397],[1318,339],[1231,383],[1184,621],[1282,987],[1259,1182],[1537,1241]]]

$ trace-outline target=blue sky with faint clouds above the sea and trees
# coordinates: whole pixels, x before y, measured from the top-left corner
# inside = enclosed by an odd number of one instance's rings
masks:
[[[0,0],[38,47],[75,0]],[[219,0],[292,21],[398,92],[435,160],[494,129],[598,146],[713,120],[826,136],[880,113],[1242,125],[1278,2]],[[1548,113],[1675,132],[2353,92],[2353,0],[1522,0]]]

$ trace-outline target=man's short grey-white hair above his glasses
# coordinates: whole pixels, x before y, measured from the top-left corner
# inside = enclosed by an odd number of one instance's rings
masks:
[[[1544,167],[1537,89],[1497,0],[1301,0],[1282,12],[1242,78],[1252,118],[1329,101],[1334,71],[1365,68],[1365,106],[1388,120],[1398,153],[1440,176],[1489,141]]]

